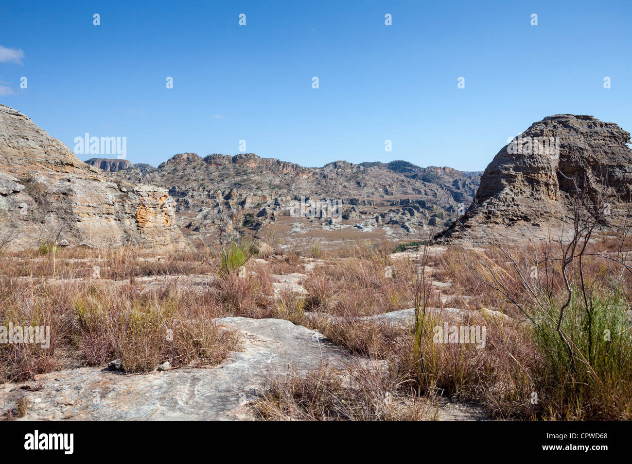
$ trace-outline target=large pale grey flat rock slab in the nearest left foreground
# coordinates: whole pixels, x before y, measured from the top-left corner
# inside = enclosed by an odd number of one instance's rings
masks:
[[[323,364],[343,367],[348,355],[324,336],[283,319],[216,319],[240,331],[243,351],[219,366],[149,374],[82,367],[36,376],[36,382],[0,386],[0,407],[25,395],[25,420],[235,420],[250,419],[268,378],[300,374]],[[21,386],[39,383],[37,391]]]

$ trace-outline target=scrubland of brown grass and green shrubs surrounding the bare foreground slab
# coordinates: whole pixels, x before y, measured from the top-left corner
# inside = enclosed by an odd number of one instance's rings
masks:
[[[270,378],[251,405],[260,419],[433,419],[432,398],[477,403],[494,419],[630,419],[631,246],[593,234],[568,263],[554,241],[401,253],[358,243],[308,256],[246,242],[162,256],[4,250],[4,326],[49,326],[51,339],[45,349],[0,344],[0,378],[114,359],[128,373],[164,361],[213,366],[241,343],[215,319],[280,318],[319,331],[353,361]],[[279,275],[297,285],[275,285]],[[410,319],[375,317],[406,309]],[[437,343],[446,323],[484,327],[484,347]]]

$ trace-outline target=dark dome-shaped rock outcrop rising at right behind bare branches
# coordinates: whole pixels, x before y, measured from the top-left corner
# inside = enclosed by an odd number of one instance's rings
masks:
[[[558,114],[533,123],[494,157],[465,216],[444,237],[545,238],[549,230],[556,236],[572,219],[573,179],[582,177],[590,198],[608,192],[604,226],[619,225],[632,208],[629,141],[617,124],[592,116]]]

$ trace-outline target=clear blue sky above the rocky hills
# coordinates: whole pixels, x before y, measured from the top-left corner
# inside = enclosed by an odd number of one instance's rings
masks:
[[[245,140],[247,152],[308,166],[403,159],[483,170],[508,137],[551,114],[632,130],[629,1],[1,8],[0,103],[71,150],[86,132],[125,136],[132,163],[233,155]]]

